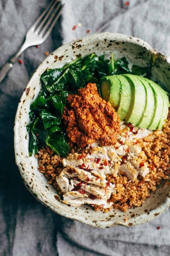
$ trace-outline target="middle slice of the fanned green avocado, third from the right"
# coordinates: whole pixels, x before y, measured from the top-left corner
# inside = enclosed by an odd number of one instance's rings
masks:
[[[125,118],[127,123],[137,125],[140,122],[146,105],[145,88],[136,75],[123,75],[131,85],[132,97],[129,112]]]

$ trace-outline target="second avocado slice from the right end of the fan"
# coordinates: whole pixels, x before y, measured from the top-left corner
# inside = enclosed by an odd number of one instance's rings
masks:
[[[145,78],[140,77],[140,76],[138,76],[137,78],[142,82],[142,84],[145,88],[145,93],[146,93],[145,108],[142,113],[141,120],[137,123],[137,126],[147,129],[151,123],[151,120],[152,120],[152,117],[154,114],[154,110],[155,110],[154,92],[153,92],[151,86],[145,80]]]

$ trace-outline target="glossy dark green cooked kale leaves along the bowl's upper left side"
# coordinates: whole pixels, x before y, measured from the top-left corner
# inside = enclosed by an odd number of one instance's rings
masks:
[[[77,93],[78,89],[93,82],[101,95],[100,78],[103,76],[128,73],[149,78],[150,67],[133,65],[131,71],[125,57],[116,61],[114,54],[110,60],[104,57],[92,53],[85,58],[73,60],[63,68],[47,69],[41,75],[43,90],[30,105],[30,122],[27,125],[27,131],[30,132],[29,156],[46,145],[58,155],[67,156],[69,145],[61,117],[69,94]]]

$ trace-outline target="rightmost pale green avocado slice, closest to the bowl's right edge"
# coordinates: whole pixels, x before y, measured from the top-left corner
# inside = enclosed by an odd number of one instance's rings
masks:
[[[148,84],[153,88],[153,90],[155,90],[157,92],[157,94],[159,95],[159,100],[158,100],[158,104],[157,104],[157,107],[158,109],[156,109],[156,112],[160,114],[160,118],[159,118],[159,122],[158,122],[158,125],[157,127],[153,125],[153,123],[150,124],[150,126],[148,127],[149,129],[152,129],[152,130],[156,130],[158,128],[162,129],[162,126],[164,125],[165,121],[166,121],[166,118],[167,118],[167,115],[168,115],[168,112],[169,112],[169,98],[168,98],[168,95],[166,93],[166,91],[164,91],[164,89],[162,89],[158,84],[156,84],[155,82],[147,79],[147,78],[143,78],[145,79]],[[162,100],[160,99],[162,95]],[[157,113],[155,114],[155,119],[157,120]],[[154,120],[154,123],[155,123],[155,120]]]

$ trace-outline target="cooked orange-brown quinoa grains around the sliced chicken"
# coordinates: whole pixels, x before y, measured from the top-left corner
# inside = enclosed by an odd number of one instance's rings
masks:
[[[139,139],[138,143],[147,156],[146,162],[148,162],[150,169],[145,178],[138,176],[136,180],[132,181],[121,174],[114,177],[107,175],[107,180],[114,183],[116,189],[116,193],[109,199],[114,202],[112,207],[124,212],[128,208],[141,206],[144,200],[150,196],[150,193],[156,190],[160,181],[169,178],[170,113],[162,131],[155,131],[152,135]],[[75,152],[75,150],[72,149],[72,152]],[[80,148],[78,151],[82,152],[82,149]],[[39,158],[38,170],[46,176],[48,184],[51,184],[59,194],[62,194],[56,182],[56,176],[63,169],[62,158],[57,156],[49,147],[41,149],[35,156]],[[99,206],[94,206],[94,209],[96,211],[101,210]],[[105,212],[108,210],[110,209],[106,209]]]

